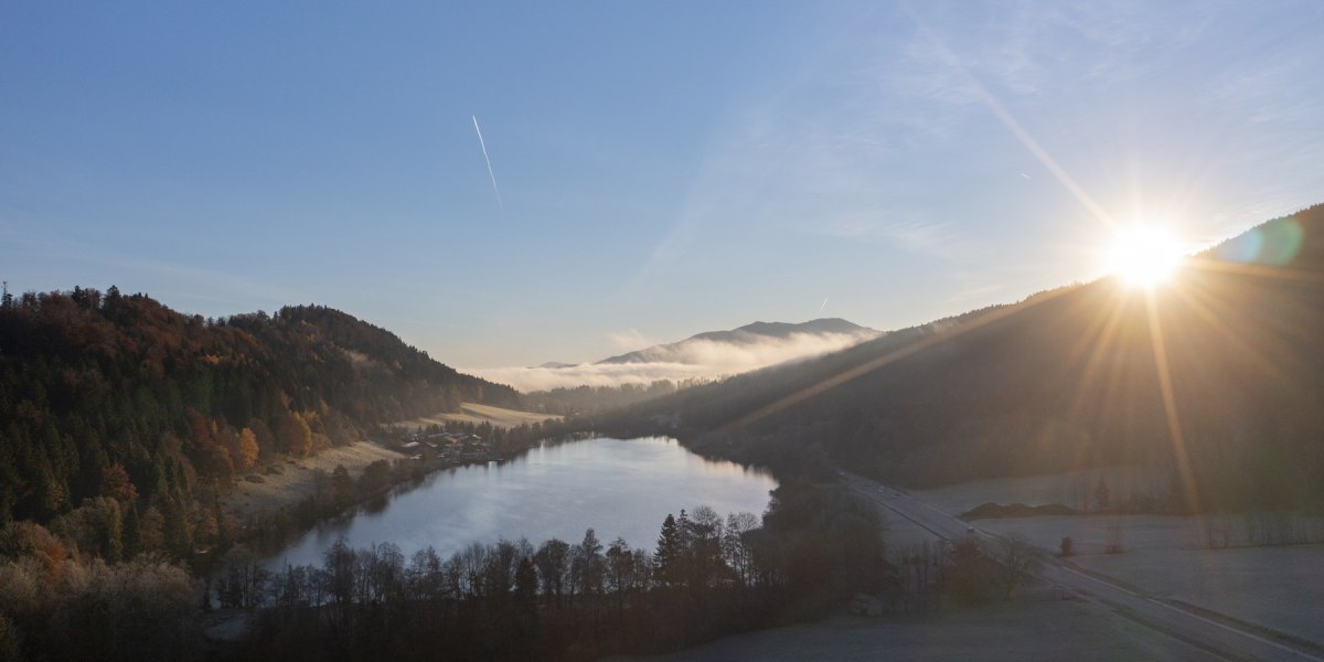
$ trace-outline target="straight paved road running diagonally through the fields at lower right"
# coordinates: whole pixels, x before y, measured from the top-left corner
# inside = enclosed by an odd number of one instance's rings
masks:
[[[978,527],[972,527],[910,494],[858,475],[842,474],[842,478],[851,489],[884,508],[888,516],[904,518],[945,540],[960,540],[969,535],[981,536],[994,544],[998,540],[996,535],[980,531]],[[1045,559],[1038,576],[1042,581],[1106,605],[1124,618],[1198,646],[1222,659],[1324,662],[1324,657],[1299,650],[1287,642],[1249,632],[1234,622],[1221,622],[1214,620],[1217,617],[1210,618],[1156,600],[1106,577],[1080,572],[1051,556]]]

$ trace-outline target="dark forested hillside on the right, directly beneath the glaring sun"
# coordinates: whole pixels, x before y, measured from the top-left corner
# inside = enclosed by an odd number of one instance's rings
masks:
[[[646,421],[712,454],[911,485],[1141,462],[1170,469],[1173,507],[1324,506],[1324,205],[1152,294],[1064,287],[610,424]]]

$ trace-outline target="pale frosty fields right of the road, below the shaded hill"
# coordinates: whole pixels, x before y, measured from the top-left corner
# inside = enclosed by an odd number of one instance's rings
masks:
[[[1113,494],[1155,485],[1143,470],[1123,467],[977,481],[912,494],[951,515],[984,502],[1074,506],[1067,500],[1072,486],[1082,478],[1096,485],[1099,477]],[[1071,561],[1079,568],[1156,598],[1186,602],[1324,646],[1324,630],[1313,608],[1324,604],[1324,544],[1247,545],[1249,538],[1262,539],[1272,527],[1286,538],[1324,540],[1324,518],[1064,515],[980,519],[970,524],[996,535],[1023,534],[1035,547],[1054,552],[1062,538],[1070,536],[1076,549]],[[1209,548],[1210,532],[1219,530],[1226,531],[1230,545]],[[1120,543],[1121,553],[1104,553],[1112,542]]]

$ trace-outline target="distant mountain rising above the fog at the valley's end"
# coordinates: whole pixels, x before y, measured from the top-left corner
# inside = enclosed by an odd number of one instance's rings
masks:
[[[880,332],[838,318],[813,319],[798,324],[784,322],[755,322],[731,331],[708,331],[692,335],[678,343],[657,344],[620,356],[597,361],[602,364],[626,363],[704,363],[703,356],[724,350],[748,350],[757,346],[789,347],[804,344],[806,350],[831,346],[847,347],[861,340],[878,336]],[[818,354],[806,351],[802,355]]]

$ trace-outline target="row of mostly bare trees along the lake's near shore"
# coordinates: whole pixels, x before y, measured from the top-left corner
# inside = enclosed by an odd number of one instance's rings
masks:
[[[339,540],[320,565],[278,572],[237,548],[212,591],[256,613],[252,638],[225,651],[234,659],[593,659],[812,618],[882,591],[880,524],[846,490],[790,482],[761,520],[699,506],[667,515],[649,548],[592,528],[575,543],[474,543],[449,557]]]

